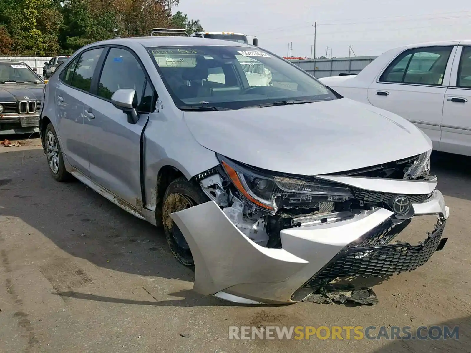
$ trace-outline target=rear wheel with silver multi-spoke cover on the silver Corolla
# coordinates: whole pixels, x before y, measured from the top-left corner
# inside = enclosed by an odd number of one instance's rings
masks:
[[[46,146],[46,157],[52,177],[57,181],[70,180],[72,176],[65,170],[64,156],[52,123],[48,124],[44,132],[44,145]]]

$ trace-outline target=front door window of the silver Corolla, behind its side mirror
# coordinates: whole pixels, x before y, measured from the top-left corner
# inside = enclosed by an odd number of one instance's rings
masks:
[[[145,84],[146,74],[136,58],[128,50],[111,48],[101,72],[98,96],[111,99],[118,89],[134,89],[138,96],[138,108],[142,109],[146,106],[143,102]],[[148,91],[146,95],[149,95]]]

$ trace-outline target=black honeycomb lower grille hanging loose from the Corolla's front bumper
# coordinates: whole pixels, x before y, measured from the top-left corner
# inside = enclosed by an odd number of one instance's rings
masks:
[[[435,251],[443,249],[447,241],[447,238],[442,239],[445,219],[440,220],[435,225],[433,233],[428,233],[427,239],[418,245],[409,243],[377,245],[391,241],[408,222],[403,224],[394,226],[391,221],[387,221],[374,233],[365,234],[359,245],[341,251],[329,264],[311,277],[304,288],[317,290],[338,277],[382,277],[413,271],[425,264]]]

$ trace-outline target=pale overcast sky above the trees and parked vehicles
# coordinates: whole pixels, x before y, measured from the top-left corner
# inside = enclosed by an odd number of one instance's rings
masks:
[[[311,57],[315,21],[316,57],[349,56],[349,45],[351,56],[377,56],[407,44],[471,38],[470,0],[180,0],[179,10],[205,31],[256,35],[261,48],[281,56]]]

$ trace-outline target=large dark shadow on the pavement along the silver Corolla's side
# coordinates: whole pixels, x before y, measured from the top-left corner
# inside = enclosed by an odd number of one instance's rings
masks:
[[[193,281],[194,271],[175,260],[162,229],[77,180],[55,181],[41,149],[9,148],[0,153],[1,216],[20,218],[60,249],[99,267]]]

